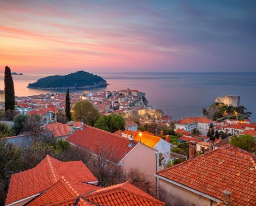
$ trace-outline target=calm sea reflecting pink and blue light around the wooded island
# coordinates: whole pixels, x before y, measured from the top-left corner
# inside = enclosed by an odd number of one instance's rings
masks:
[[[149,105],[163,109],[174,119],[201,115],[203,107],[217,96],[240,95],[240,103],[252,112],[256,121],[256,73],[98,73],[109,83],[107,88],[93,91],[137,89],[146,93]],[[26,88],[28,83],[49,76],[25,74],[13,76],[16,95],[28,96],[52,91]],[[0,75],[0,89],[4,89],[4,76]],[[54,91],[65,93],[66,91]],[[71,91],[82,94],[83,90]]]

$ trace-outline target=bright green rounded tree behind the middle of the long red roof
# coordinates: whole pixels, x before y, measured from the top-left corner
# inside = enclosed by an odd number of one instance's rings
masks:
[[[98,118],[94,127],[103,129],[109,132],[115,132],[118,129],[125,130],[125,119],[121,114],[105,115]]]

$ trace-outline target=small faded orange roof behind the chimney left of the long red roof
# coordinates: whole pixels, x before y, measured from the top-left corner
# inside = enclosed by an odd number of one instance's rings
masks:
[[[74,122],[73,127],[81,127],[81,122]],[[52,124],[46,125],[46,130],[53,132],[55,138],[60,136],[70,135],[68,123],[66,124],[62,124],[58,122],[52,123]]]

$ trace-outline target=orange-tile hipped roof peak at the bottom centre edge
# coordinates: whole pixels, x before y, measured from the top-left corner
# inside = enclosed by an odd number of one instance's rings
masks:
[[[164,202],[148,195],[129,182],[101,188],[91,194],[84,195],[83,197],[97,205],[164,205]]]

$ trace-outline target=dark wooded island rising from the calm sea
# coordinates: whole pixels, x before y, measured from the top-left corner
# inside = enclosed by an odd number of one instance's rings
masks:
[[[33,89],[88,89],[107,87],[107,81],[102,77],[79,71],[68,75],[54,75],[38,79],[37,82],[29,83],[28,88]]]

